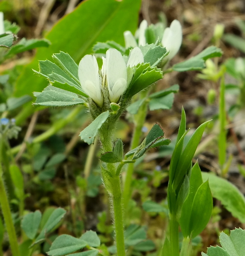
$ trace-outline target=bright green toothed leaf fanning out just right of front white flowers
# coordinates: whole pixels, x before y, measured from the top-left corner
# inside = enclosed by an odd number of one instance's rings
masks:
[[[150,86],[162,78],[162,71],[158,68],[150,67],[149,63],[141,63],[135,67],[134,77],[125,91],[125,96],[133,97],[139,91]]]

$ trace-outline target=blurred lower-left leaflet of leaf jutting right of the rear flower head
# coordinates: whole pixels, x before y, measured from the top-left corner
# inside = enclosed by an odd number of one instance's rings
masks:
[[[196,57],[190,58],[189,60],[182,61],[173,65],[173,70],[178,72],[184,72],[189,70],[202,70],[205,68],[205,61]]]

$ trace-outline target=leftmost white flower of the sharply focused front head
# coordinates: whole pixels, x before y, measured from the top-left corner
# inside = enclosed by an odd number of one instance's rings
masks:
[[[85,55],[81,59],[78,65],[78,77],[83,91],[101,107],[103,100],[99,67],[95,56]]]

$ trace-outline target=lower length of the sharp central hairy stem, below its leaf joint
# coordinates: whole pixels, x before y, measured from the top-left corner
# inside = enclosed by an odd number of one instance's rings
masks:
[[[122,216],[122,192],[120,177],[113,179],[113,210],[114,210],[114,225],[116,233],[117,255],[125,256],[124,233],[123,233],[123,216]]]

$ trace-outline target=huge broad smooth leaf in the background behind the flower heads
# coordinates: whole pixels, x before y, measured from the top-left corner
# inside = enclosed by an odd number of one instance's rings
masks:
[[[130,30],[134,33],[138,26],[140,6],[140,0],[104,0],[103,4],[101,0],[83,1],[45,36],[52,44],[48,48],[37,49],[35,58],[24,68],[16,82],[15,95],[31,95],[33,91],[45,88],[47,82],[33,76],[31,70],[38,68],[38,60],[51,60],[52,54],[61,50],[69,53],[78,63],[84,55],[91,53],[98,41],[114,40],[122,45],[123,32]]]

